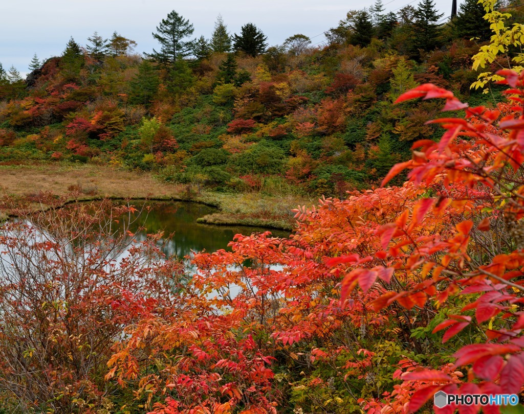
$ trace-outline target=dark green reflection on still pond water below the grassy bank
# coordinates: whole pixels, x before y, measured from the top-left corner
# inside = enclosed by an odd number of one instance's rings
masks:
[[[217,209],[203,204],[190,202],[147,202],[130,203],[141,210],[137,220],[130,228],[136,232],[140,226],[145,231],[136,233],[137,240],[146,238],[147,233],[155,233],[159,230],[165,232],[166,245],[164,253],[176,254],[179,258],[191,253],[191,251],[214,252],[219,249],[227,249],[227,243],[233,240],[237,233],[251,234],[268,229],[246,226],[211,226],[199,224],[196,219],[206,214],[216,212]],[[149,212],[145,207],[150,207]],[[289,231],[270,230],[275,237],[288,237]],[[173,233],[170,237],[169,234]]]

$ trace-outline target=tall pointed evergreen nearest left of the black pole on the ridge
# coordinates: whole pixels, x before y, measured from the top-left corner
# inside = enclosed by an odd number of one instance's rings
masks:
[[[418,50],[431,51],[442,44],[441,28],[436,24],[444,16],[438,13],[432,0],[422,0],[414,13],[413,28],[416,36],[411,39],[413,57],[417,57]]]

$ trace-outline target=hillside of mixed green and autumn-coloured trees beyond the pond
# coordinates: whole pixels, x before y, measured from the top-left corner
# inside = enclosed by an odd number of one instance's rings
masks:
[[[326,30],[328,44],[296,34],[267,47],[254,24],[231,35],[220,16],[212,39],[194,39],[173,11],[154,33],[158,51],[140,54],[116,32],[71,38],[59,57],[35,54],[26,80],[0,70],[0,161],[91,162],[219,191],[344,196],[378,184],[414,141],[439,137],[424,125],[438,105],[393,105],[401,93],[432,82],[472,103],[499,97],[470,89],[471,57],[490,34],[483,15],[475,0],[451,21],[430,0],[395,13],[378,1]]]

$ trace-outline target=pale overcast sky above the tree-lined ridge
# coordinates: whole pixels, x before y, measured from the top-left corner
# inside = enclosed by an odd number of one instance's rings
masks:
[[[211,37],[219,13],[231,33],[252,22],[264,31],[269,46],[281,44],[296,33],[324,40],[323,32],[335,27],[350,9],[372,5],[375,0],[0,0],[0,62],[25,74],[36,52],[40,59],[62,53],[72,36],[81,46],[96,30],[104,38],[116,30],[138,43],[136,52],[158,49],[152,38],[161,19],[176,10],[194,26],[193,37]],[[383,0],[395,11],[418,0]],[[460,4],[460,0],[459,0]],[[451,0],[436,0],[449,16]]]

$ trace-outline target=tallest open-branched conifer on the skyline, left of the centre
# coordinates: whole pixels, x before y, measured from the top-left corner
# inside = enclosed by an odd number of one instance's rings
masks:
[[[157,62],[174,65],[179,59],[190,54],[191,41],[183,39],[193,34],[193,25],[174,10],[162,19],[153,37],[160,43],[160,52],[153,49],[149,56]]]

